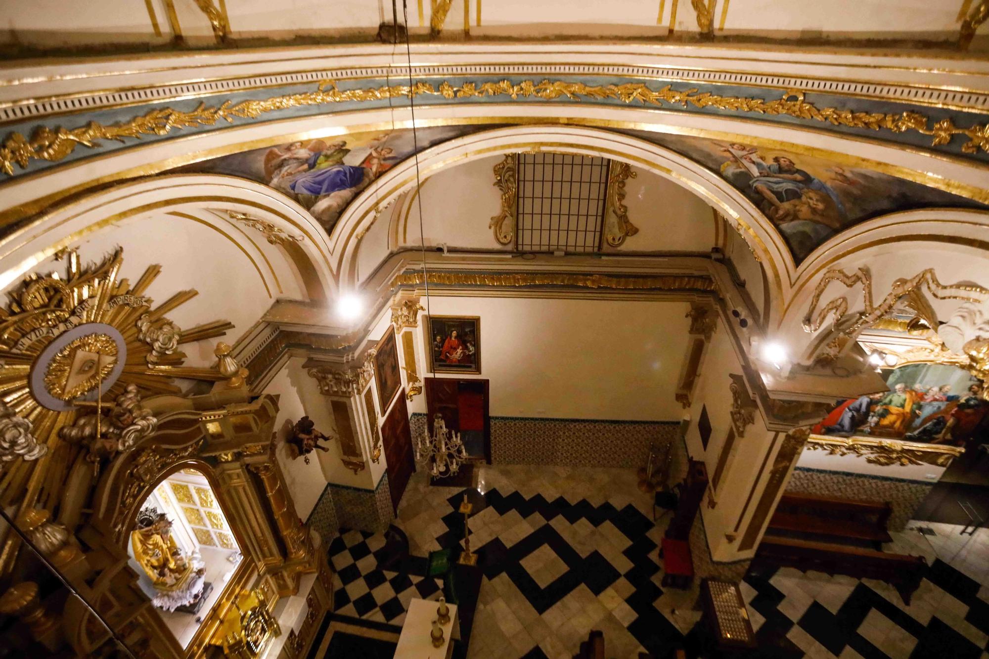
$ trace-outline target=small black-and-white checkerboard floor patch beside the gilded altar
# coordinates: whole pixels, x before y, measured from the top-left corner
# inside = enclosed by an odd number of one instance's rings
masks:
[[[333,578],[335,613],[374,622],[402,626],[412,598],[436,599],[443,580],[425,574],[424,561],[413,562],[420,574],[378,569],[378,555],[385,546],[384,536],[348,530],[329,545],[329,558],[336,570]]]

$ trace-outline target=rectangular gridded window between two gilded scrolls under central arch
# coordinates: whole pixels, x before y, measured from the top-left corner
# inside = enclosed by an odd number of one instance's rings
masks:
[[[519,153],[515,247],[519,251],[598,251],[608,159]]]

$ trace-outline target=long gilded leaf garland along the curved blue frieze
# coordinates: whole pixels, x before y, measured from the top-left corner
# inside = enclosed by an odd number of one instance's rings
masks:
[[[200,103],[194,110],[183,111],[173,108],[155,108],[128,121],[104,125],[89,122],[74,129],[57,127],[50,129],[39,126],[28,139],[20,133],[11,133],[0,146],[0,170],[14,175],[14,165],[25,169],[33,160],[57,162],[75,151],[79,146],[99,148],[101,140],[124,141],[125,138],[139,140],[142,136],[167,136],[173,131],[202,126],[216,126],[222,122],[234,123],[237,119],[257,119],[258,117],[288,108],[332,105],[346,102],[382,101],[390,98],[418,96],[441,96],[448,100],[509,97],[554,101],[567,98],[572,101],[584,99],[603,101],[614,100],[625,104],[641,104],[655,107],[686,108],[696,110],[713,108],[730,112],[741,112],[753,116],[786,116],[810,120],[844,128],[884,131],[893,134],[917,133],[932,138],[932,146],[946,144],[954,136],[967,138],[961,145],[965,153],[989,152],[989,124],[959,128],[950,119],[933,122],[933,119],[918,112],[881,113],[859,112],[836,107],[819,108],[806,100],[803,91],[789,89],[782,96],[764,99],[749,96],[722,96],[710,92],[700,92],[695,88],[674,89],[665,85],[653,89],[637,82],[607,85],[588,85],[584,82],[565,80],[523,80],[512,83],[464,82],[460,85],[441,82],[438,86],[424,81],[409,85],[386,85],[340,89],[336,80],[323,80],[312,92],[273,96],[267,99],[249,99],[239,103],[227,100],[221,105],[207,106]]]

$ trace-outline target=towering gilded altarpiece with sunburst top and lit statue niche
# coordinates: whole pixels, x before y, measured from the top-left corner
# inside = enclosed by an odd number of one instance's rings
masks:
[[[132,283],[120,277],[122,263],[122,249],[90,264],[72,250],[60,252],[62,271],[29,275],[0,312],[0,503],[14,512],[19,531],[8,529],[0,549],[0,575],[9,584],[0,597],[4,613],[21,617],[52,652],[79,656],[101,655],[111,635],[135,656],[162,659],[223,656],[238,643],[259,647],[278,635],[270,612],[298,592],[302,574],[320,575],[311,591],[316,614],[329,607],[323,552],[295,514],[274,458],[277,398],[250,395],[225,344],[213,366],[186,366],[183,344],[221,336],[232,325],[180,329],[166,314],[197,292],[155,305],[145,292],[160,268],[147,267]],[[184,394],[179,383],[189,380],[214,383],[212,393]],[[155,544],[151,532],[145,542],[134,532],[151,493],[182,470],[206,479],[216,496],[209,508],[219,507],[216,520],[243,554],[184,645],[129,564],[178,565],[143,551],[172,552],[174,543]],[[40,592],[50,569],[78,597]],[[246,644],[242,635],[218,636],[238,600],[257,603],[261,632]]]

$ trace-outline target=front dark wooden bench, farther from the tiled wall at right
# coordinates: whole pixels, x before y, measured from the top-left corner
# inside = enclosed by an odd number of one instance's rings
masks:
[[[928,567],[923,556],[774,535],[764,536],[754,562],[884,581],[896,589],[908,607]]]

